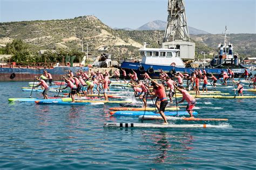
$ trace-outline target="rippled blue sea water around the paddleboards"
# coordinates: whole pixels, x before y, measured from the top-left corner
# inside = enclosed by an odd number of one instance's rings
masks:
[[[229,124],[232,128],[103,128],[105,122],[139,121],[137,117],[110,117],[108,108],[118,104],[9,103],[8,98],[30,96],[21,90],[28,82],[0,82],[0,86],[1,169],[256,168],[255,99],[197,101],[199,117],[228,118],[226,123],[171,122]],[[230,88],[219,90],[233,93]],[[41,93],[32,97],[42,98]]]

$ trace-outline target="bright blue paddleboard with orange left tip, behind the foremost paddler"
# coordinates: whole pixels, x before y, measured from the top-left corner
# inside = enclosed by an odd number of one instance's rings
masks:
[[[165,116],[177,116],[177,112],[176,111],[165,111],[164,112]],[[197,112],[194,111],[193,115],[197,116]],[[158,116],[160,114],[158,114],[158,112],[156,111],[110,111],[110,115],[113,116],[145,116],[145,115],[149,115],[149,116]],[[186,111],[178,111],[178,116],[188,116],[190,114],[188,114],[188,112]]]

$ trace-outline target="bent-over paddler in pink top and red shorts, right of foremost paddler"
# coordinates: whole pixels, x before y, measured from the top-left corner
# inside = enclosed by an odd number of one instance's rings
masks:
[[[183,98],[181,101],[179,101],[177,103],[177,105],[179,103],[183,103],[185,100],[187,101],[187,107],[186,107],[186,111],[188,112],[188,114],[190,114],[190,117],[191,118],[194,118],[193,116],[193,109],[194,109],[194,106],[196,105],[196,100],[194,99],[193,96],[191,96],[187,90],[185,90],[182,86],[180,87],[177,87],[175,84],[174,86],[180,91],[180,93],[183,95]]]

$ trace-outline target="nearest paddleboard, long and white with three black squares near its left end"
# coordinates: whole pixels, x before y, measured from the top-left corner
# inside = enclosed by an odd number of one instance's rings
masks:
[[[153,124],[153,123],[104,123],[104,128],[232,128],[231,125],[210,124]]]

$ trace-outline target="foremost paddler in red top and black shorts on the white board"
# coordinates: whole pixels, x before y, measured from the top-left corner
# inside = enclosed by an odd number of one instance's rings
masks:
[[[164,114],[166,105],[168,104],[168,101],[167,101],[168,98],[166,97],[165,87],[163,86],[163,84],[159,84],[158,82],[152,80],[151,78],[150,80],[152,81],[153,89],[156,89],[156,92],[155,92],[156,96],[159,97],[158,99],[158,101],[160,101],[159,114],[161,115],[161,117],[163,117],[164,124],[168,124]]]

